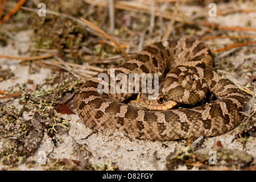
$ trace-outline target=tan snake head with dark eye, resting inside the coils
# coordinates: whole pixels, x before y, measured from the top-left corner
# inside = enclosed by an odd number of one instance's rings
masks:
[[[155,100],[149,100],[150,94],[139,93],[137,96],[138,105],[149,110],[168,110],[177,106],[177,102],[170,100],[165,94],[159,94]]]

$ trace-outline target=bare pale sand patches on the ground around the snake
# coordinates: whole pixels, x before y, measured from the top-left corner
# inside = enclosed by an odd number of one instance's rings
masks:
[[[256,19],[255,14],[247,14],[248,19]],[[243,26],[244,22],[246,23],[245,18],[241,18],[238,15],[230,14],[226,17],[227,20],[219,20],[218,18],[209,18],[209,21],[218,22],[229,22],[230,24],[225,24],[225,26]],[[234,21],[233,21],[234,20]],[[256,22],[252,27],[256,27]],[[29,56],[29,49],[31,46],[30,35],[31,31],[21,31],[15,34],[13,43],[8,44],[6,47],[0,48],[1,55],[12,55],[12,56]],[[228,42],[228,40],[222,40]],[[227,59],[235,59],[230,57]],[[238,59],[239,60],[239,57]],[[28,66],[20,66],[19,60],[9,60],[9,59],[0,59],[0,64],[2,68],[10,68],[11,71],[15,73],[15,78],[5,80],[0,82],[1,90],[8,90],[10,86],[20,84],[22,82],[27,82],[28,79],[33,80],[34,84],[42,84],[47,77],[51,77],[53,71],[48,68],[41,68],[39,73],[30,74],[28,73]],[[6,106],[15,105],[18,108],[21,108],[22,105],[19,105],[19,98],[7,98],[3,101],[7,101]],[[75,111],[75,110],[74,110]],[[76,111],[75,111],[76,112]],[[24,117],[30,118],[31,113],[24,114]],[[92,131],[81,122],[78,121],[79,117],[77,115],[63,115],[63,118],[67,119],[70,123],[68,133],[57,133],[56,139],[59,139],[57,147],[54,147],[52,139],[49,138],[46,134],[40,144],[40,147],[35,152],[34,155],[30,156],[27,160],[35,160],[38,162],[34,166],[28,168],[26,164],[20,164],[16,169],[19,170],[41,170],[46,169],[44,165],[40,164],[42,161],[42,155],[48,155],[48,158],[55,159],[75,159],[80,160],[79,156],[76,153],[74,142],[72,137],[75,138],[76,142],[83,144],[87,151],[92,155],[86,155],[85,158],[89,159],[92,163],[97,164],[112,164],[117,166],[118,169],[129,169],[129,170],[155,170],[155,169],[165,169],[165,159],[170,152],[174,152],[175,148],[178,146],[184,146],[183,141],[169,141],[169,142],[151,142],[145,140],[133,139],[130,140],[124,137],[122,134],[116,133],[112,136],[108,134],[98,132],[90,135]],[[87,136],[90,135],[88,138]],[[200,144],[201,148],[211,148],[216,146],[216,142],[220,141],[222,146],[226,148],[234,148],[242,151],[246,151],[248,154],[251,154],[256,157],[256,138],[250,137],[250,141],[242,145],[242,143],[234,139],[233,134],[224,134],[218,137],[205,138]],[[157,164],[156,168],[153,164],[154,152],[157,151]],[[254,159],[255,160],[255,159]],[[0,164],[0,169],[6,169],[6,166]],[[187,167],[181,166],[178,169],[186,170]],[[197,167],[192,169],[197,170]]]

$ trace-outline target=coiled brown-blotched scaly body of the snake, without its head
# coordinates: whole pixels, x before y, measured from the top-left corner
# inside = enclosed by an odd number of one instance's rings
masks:
[[[205,88],[189,92],[199,85],[207,85],[217,99],[191,108],[146,110],[123,103],[134,93],[99,93],[97,88],[102,80],[98,80],[97,74],[79,89],[77,112],[90,129],[108,130],[108,133],[121,131],[139,139],[176,140],[191,134],[195,137],[224,134],[240,124],[245,96],[232,81],[208,68],[212,65],[212,52],[199,40],[181,38],[151,44],[133,59],[114,68],[114,74],[164,73],[172,69],[164,82],[166,94],[172,100],[195,104],[195,98],[201,96]],[[110,77],[110,69],[102,73]],[[200,84],[192,83],[201,77]],[[183,89],[182,85],[188,85],[189,89]]]

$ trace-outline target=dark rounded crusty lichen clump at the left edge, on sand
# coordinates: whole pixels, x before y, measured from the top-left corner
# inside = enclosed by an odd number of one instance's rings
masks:
[[[22,113],[15,106],[0,107],[0,162],[5,165],[24,162],[35,152],[43,136],[40,115],[35,113],[27,120]]]

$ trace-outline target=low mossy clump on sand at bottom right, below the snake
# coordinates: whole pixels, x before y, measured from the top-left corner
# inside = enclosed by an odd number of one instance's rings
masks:
[[[206,148],[199,151],[194,151],[194,148],[191,146],[185,148],[178,147],[172,154],[167,156],[166,168],[174,170],[180,165],[185,165],[188,168],[199,167],[212,170],[218,168],[230,170],[244,169],[249,167],[253,159],[252,155],[244,151],[224,147]]]

